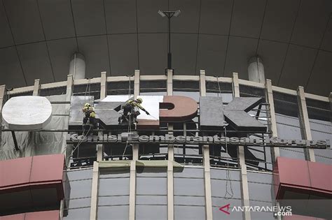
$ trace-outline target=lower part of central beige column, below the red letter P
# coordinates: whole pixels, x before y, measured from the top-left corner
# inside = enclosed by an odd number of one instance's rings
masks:
[[[173,130],[173,125],[168,124],[168,130]],[[173,135],[173,132],[168,132]],[[174,145],[168,145],[168,161],[167,161],[167,219],[174,219]]]

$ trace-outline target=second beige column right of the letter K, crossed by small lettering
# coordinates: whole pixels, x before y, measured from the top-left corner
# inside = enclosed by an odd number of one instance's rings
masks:
[[[307,103],[305,102],[305,92],[303,87],[298,87],[298,113],[300,120],[300,127],[302,138],[306,140],[312,140],[311,130],[310,130],[310,122],[309,117],[307,115]],[[312,148],[305,148],[305,159],[307,161],[314,162],[314,149]]]

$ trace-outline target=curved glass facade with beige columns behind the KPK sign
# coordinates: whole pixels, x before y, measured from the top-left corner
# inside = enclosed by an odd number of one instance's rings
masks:
[[[60,178],[63,187],[59,189],[63,196],[58,194],[53,206],[34,204],[20,209],[19,200],[15,200],[18,208],[13,210],[5,205],[1,220],[27,219],[29,213],[36,211],[43,212],[43,217],[51,213],[49,217],[68,220],[331,218],[331,210],[326,208],[331,204],[332,194],[331,178],[328,178],[332,150],[328,147],[67,142],[67,134],[82,132],[81,127],[76,129],[70,124],[71,115],[77,114],[73,112],[72,97],[81,96],[86,102],[98,104],[107,96],[124,95],[128,98],[186,96],[198,102],[198,106],[200,97],[205,96],[221,97],[223,105],[238,97],[262,98],[248,114],[267,130],[239,134],[227,125],[207,131],[200,127],[199,108],[195,117],[184,122],[160,120],[159,129],[135,130],[130,126],[128,129],[105,129],[99,126],[95,131],[97,135],[238,135],[332,140],[331,95],[308,94],[303,87],[298,87],[297,91],[275,87],[271,80],[242,80],[237,73],[233,73],[232,78],[223,78],[207,76],[205,71],[200,71],[200,75],[174,75],[172,70],[167,70],[165,75],[141,75],[135,71],[132,76],[118,77],[106,77],[102,72],[100,78],[90,80],[74,80],[72,75],[64,82],[40,85],[39,80],[35,80],[34,86],[12,91],[6,91],[2,86],[1,106],[16,96],[46,96],[52,104],[53,116],[41,131],[15,131],[20,147],[17,151],[13,150],[10,129],[4,126],[0,165],[17,158],[64,154],[65,166],[64,177]],[[25,140],[34,140],[34,144]],[[304,176],[305,172],[308,175]],[[2,184],[1,198],[8,200],[15,192],[8,191],[8,187],[15,188],[14,185]],[[16,192],[20,191],[18,188]],[[308,213],[305,210],[310,208],[298,205],[310,201],[319,201],[321,209]],[[293,207],[291,212],[262,210],[262,207],[289,206]],[[238,207],[244,207],[244,210],[236,210]]]

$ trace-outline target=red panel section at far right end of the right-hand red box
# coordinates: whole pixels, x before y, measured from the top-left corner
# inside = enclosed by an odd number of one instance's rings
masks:
[[[311,186],[320,191],[332,192],[332,166],[308,161]]]

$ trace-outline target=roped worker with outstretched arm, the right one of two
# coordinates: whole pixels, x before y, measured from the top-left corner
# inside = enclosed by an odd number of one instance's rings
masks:
[[[146,115],[150,115],[150,113],[148,113],[147,110],[145,110],[145,108],[143,108],[141,106],[141,103],[143,102],[143,100],[141,98],[137,98],[136,100],[128,100],[125,105],[123,105],[123,115],[121,117],[118,118],[118,122],[119,124],[121,123],[121,121],[123,122],[123,120],[128,120],[127,115],[130,112],[130,115],[133,115],[133,122],[137,122],[137,116],[139,115],[139,110],[143,110],[144,112],[146,112]]]

